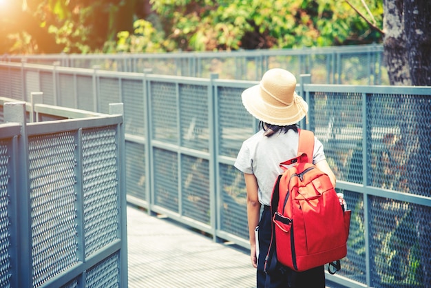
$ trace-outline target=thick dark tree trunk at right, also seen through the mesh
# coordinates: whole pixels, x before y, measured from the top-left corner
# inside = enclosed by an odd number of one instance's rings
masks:
[[[384,57],[391,85],[431,85],[431,1],[383,0]],[[431,102],[425,96],[399,96],[398,125],[404,169],[408,175],[398,181],[406,183],[405,193],[429,196],[431,182]],[[423,286],[431,285],[430,251],[431,207],[410,205],[416,230],[421,269],[417,276]],[[414,242],[408,243],[410,250]]]

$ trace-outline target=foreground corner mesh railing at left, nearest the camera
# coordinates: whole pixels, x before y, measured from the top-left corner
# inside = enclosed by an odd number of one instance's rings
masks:
[[[123,116],[0,100],[0,286],[126,286]]]

